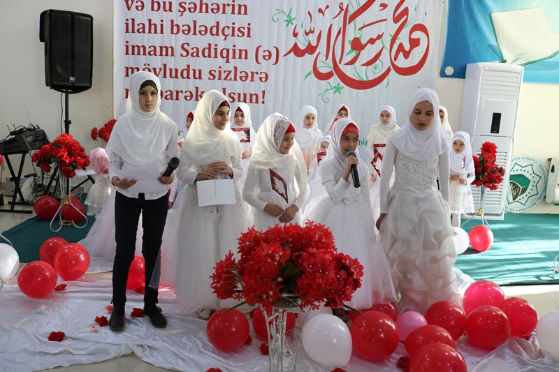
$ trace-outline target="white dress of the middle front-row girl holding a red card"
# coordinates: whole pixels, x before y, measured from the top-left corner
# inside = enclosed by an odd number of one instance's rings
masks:
[[[254,211],[254,228],[256,230],[265,231],[268,228],[279,223],[278,217],[270,216],[264,211],[266,204],[277,204],[284,210],[295,204],[298,212],[290,223],[301,223],[301,209],[309,195],[308,188],[303,188],[303,192],[298,192],[296,186],[303,182],[303,175],[298,172],[297,158],[293,156],[293,163],[286,168],[272,168],[273,172],[279,174],[286,182],[283,185],[276,181],[276,188],[280,191],[286,189],[287,200],[285,200],[272,187],[270,170],[249,170],[245,187],[242,190],[242,196],[248,204],[252,205]],[[300,189],[300,188],[299,188]]]

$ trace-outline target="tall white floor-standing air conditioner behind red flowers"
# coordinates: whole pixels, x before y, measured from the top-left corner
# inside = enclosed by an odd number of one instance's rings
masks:
[[[460,131],[465,131],[472,137],[474,155],[479,153],[484,142],[495,143],[497,164],[505,169],[504,179],[498,190],[486,190],[486,218],[504,218],[523,75],[522,66],[511,64],[484,62],[466,66]],[[472,186],[477,208],[480,207],[480,193],[479,187]],[[467,214],[466,217],[480,218],[477,214]]]

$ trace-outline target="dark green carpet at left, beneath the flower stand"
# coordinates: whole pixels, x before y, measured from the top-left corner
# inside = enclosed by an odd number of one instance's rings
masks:
[[[41,244],[49,238],[61,237],[66,239],[69,243],[76,243],[85,238],[89,228],[95,221],[95,216],[87,216],[87,226],[85,228],[76,228],[74,225],[62,226],[59,232],[52,232],[50,230],[50,220],[43,220],[38,217],[29,218],[29,220],[20,223],[19,225],[2,232],[2,235],[9,239],[17,254],[20,255],[20,262],[32,262],[41,260],[39,258],[39,249]],[[83,226],[85,221],[76,223],[78,226]],[[52,228],[59,228],[58,217],[52,223]],[[3,239],[1,242],[5,243]]]

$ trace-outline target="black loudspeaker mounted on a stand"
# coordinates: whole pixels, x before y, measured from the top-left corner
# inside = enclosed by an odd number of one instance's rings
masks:
[[[66,10],[45,10],[39,22],[45,43],[45,84],[75,94],[92,87],[93,17]]]

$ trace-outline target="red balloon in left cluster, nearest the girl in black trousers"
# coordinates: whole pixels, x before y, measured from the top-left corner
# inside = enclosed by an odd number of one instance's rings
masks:
[[[66,244],[55,255],[55,269],[64,281],[75,281],[89,268],[89,252],[78,243]]]

